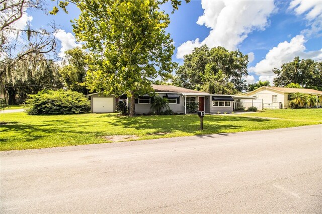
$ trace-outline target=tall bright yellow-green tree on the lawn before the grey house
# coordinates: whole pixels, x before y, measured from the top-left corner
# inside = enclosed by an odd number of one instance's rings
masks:
[[[173,40],[165,31],[170,18],[159,8],[168,1],[68,2],[81,10],[73,32],[91,53],[91,60],[87,60],[88,88],[105,94],[127,94],[129,115],[134,116],[135,97],[153,91],[151,79],[169,78],[176,65],[171,59]],[[175,10],[181,1],[171,3]],[[57,8],[53,10],[57,12]]]

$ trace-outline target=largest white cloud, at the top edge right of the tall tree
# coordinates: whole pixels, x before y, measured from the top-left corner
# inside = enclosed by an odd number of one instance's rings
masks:
[[[210,28],[207,38],[199,38],[183,43],[177,51],[177,58],[183,58],[195,47],[208,45],[212,48],[223,46],[235,50],[248,34],[255,30],[265,30],[269,25],[268,17],[275,11],[273,1],[231,1],[202,0],[204,14],[197,24]]]

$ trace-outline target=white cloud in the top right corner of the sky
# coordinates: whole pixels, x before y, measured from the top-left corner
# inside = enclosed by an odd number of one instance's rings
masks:
[[[307,20],[307,29],[301,31],[306,37],[312,35],[320,36],[322,31],[322,3],[321,1],[300,1],[293,0],[290,3],[289,10],[294,11],[297,16],[305,15]]]

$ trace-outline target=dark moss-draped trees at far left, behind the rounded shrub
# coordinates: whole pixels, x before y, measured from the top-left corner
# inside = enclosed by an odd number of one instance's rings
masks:
[[[0,61],[0,92],[9,104],[15,104],[16,95],[23,101],[27,94],[62,87],[58,65],[43,54],[34,53],[26,56],[26,60],[12,61],[9,58]]]

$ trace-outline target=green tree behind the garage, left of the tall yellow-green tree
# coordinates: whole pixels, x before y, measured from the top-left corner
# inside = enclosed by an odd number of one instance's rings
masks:
[[[76,47],[65,52],[66,59],[64,66],[59,69],[61,80],[64,85],[73,91],[88,94],[86,88],[86,72],[88,66],[86,61],[88,60],[88,53],[82,48]]]

